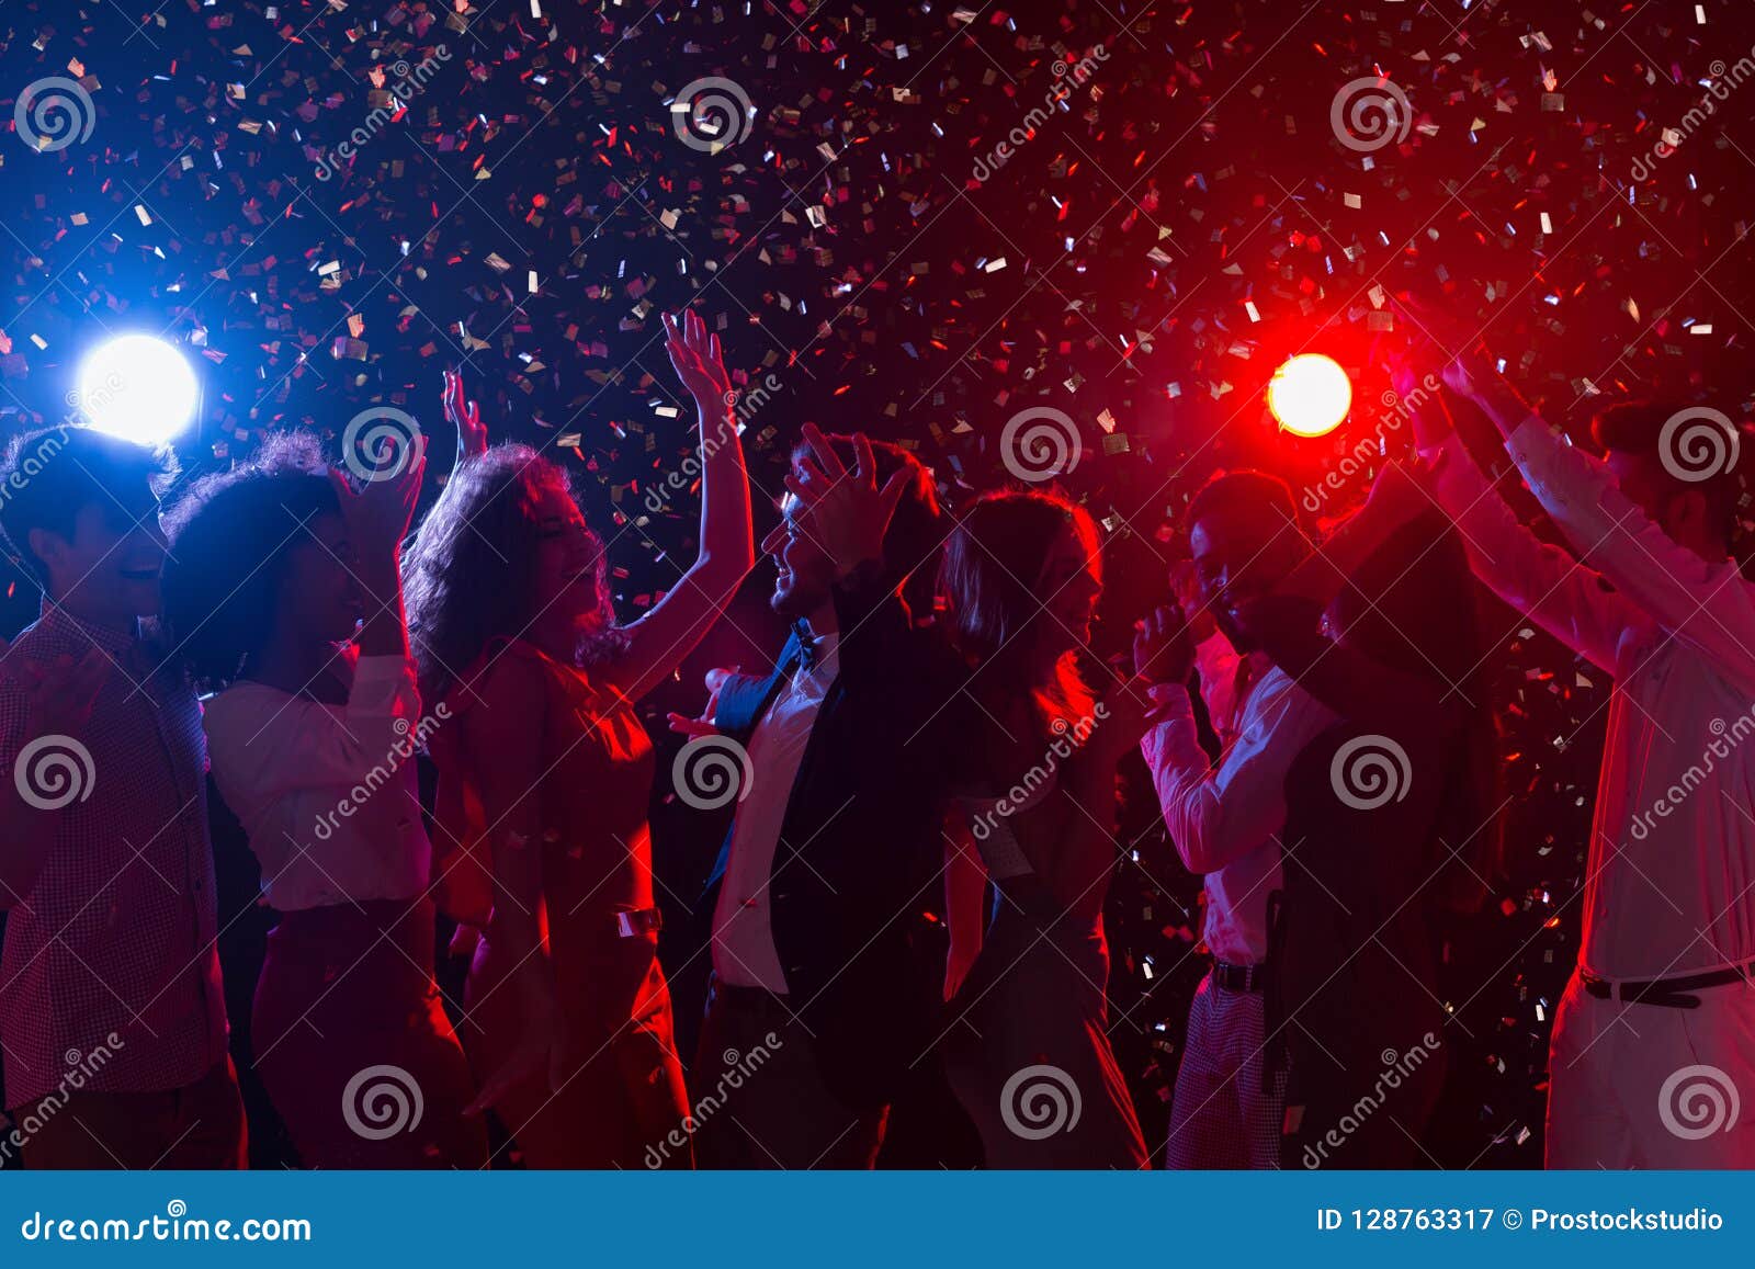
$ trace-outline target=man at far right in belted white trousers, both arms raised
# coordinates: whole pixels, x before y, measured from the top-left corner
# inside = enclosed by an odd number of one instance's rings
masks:
[[[1548,1165],[1755,1167],[1755,586],[1729,558],[1739,434],[1709,411],[1620,407],[1597,419],[1599,460],[1478,348],[1444,381],[1499,428],[1578,553],[1518,523],[1444,411],[1425,409],[1425,483],[1471,565],[1615,676],[1578,971],[1550,1050]]]

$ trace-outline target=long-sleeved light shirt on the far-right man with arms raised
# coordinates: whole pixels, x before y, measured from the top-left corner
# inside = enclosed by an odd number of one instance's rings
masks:
[[[1671,542],[1539,418],[1506,448],[1595,570],[1518,523],[1458,437],[1429,456],[1481,581],[1615,676],[1580,964],[1651,979],[1755,960],[1755,586]]]

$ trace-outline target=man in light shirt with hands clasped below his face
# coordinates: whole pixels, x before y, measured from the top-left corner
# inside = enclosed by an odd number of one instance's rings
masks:
[[[1285,481],[1232,472],[1188,507],[1199,600],[1218,632],[1199,649],[1183,630],[1148,623],[1146,663],[1162,721],[1141,748],[1171,841],[1206,878],[1204,941],[1213,969],[1188,1011],[1171,1104],[1167,1167],[1279,1167],[1286,1071],[1267,1034],[1274,900],[1283,885],[1285,778],[1336,716],[1255,649],[1234,611],[1283,581],[1307,555]],[[1200,670],[1220,765],[1197,737],[1185,686]]]

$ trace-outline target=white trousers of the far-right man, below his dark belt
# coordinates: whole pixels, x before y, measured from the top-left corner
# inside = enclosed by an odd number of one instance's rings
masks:
[[[1755,986],[1694,995],[1601,1000],[1572,976],[1548,1050],[1548,1167],[1755,1167]]]

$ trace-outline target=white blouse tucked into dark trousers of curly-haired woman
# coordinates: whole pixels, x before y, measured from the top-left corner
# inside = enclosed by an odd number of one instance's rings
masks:
[[[419,713],[414,663],[404,656],[362,656],[346,706],[261,683],[237,683],[205,702],[214,783],[249,834],[270,907],[402,900],[426,890],[432,842],[414,751],[444,718]]]

